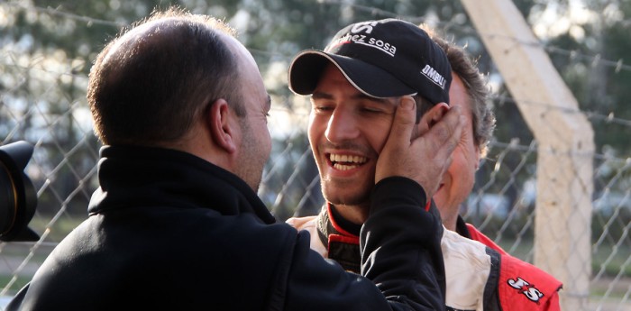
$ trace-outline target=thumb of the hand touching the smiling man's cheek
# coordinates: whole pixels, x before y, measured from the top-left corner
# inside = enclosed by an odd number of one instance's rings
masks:
[[[405,160],[400,155],[409,149],[415,126],[416,102],[412,96],[403,96],[395,112],[388,141],[377,160],[375,183],[390,176],[405,176],[406,166],[397,165],[397,162]]]

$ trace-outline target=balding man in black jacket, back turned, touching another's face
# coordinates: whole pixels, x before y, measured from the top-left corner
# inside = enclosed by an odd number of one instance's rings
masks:
[[[449,163],[458,110],[412,141],[413,101],[389,116],[358,276],[256,196],[270,96],[224,23],[152,14],[98,55],[87,100],[104,144],[89,217],[7,310],[444,309],[440,219],[418,206]]]

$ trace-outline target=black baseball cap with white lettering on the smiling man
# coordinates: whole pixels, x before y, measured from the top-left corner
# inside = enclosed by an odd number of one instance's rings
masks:
[[[328,63],[368,96],[419,95],[432,104],[449,103],[449,59],[414,23],[389,18],[344,27],[325,50],[298,53],[289,65],[289,89],[312,94]]]

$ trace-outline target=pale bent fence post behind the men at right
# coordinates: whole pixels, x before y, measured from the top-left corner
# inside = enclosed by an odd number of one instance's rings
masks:
[[[534,264],[562,280],[563,310],[586,310],[591,272],[591,124],[511,1],[489,0],[482,5],[462,0],[462,5],[538,142]]]

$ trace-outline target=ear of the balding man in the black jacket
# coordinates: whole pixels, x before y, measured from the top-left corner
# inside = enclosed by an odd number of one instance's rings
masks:
[[[234,123],[231,122],[234,117],[232,109],[224,98],[215,100],[206,113],[206,122],[213,142],[230,153],[237,149],[234,142]]]

